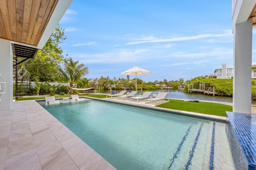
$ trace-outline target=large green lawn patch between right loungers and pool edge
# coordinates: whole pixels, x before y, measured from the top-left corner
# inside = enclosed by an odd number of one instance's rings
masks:
[[[226,111],[232,112],[232,106],[211,102],[184,102],[183,100],[170,100],[167,103],[157,105],[167,109],[175,109],[180,111],[188,111],[195,113],[203,113],[207,115],[216,115],[226,117]]]

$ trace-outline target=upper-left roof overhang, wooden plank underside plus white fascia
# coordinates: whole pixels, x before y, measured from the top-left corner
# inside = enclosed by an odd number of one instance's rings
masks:
[[[1,0],[0,38],[42,49],[72,0]]]

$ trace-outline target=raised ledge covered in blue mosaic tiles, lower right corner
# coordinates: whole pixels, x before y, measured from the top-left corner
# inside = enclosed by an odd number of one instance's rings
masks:
[[[256,170],[256,115],[227,112],[226,128],[237,169]]]

